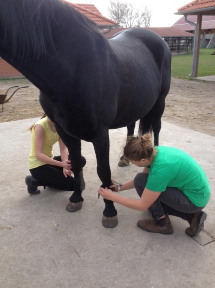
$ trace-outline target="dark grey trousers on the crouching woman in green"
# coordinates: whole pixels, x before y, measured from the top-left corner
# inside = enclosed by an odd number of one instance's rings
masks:
[[[147,183],[148,174],[138,173],[134,178],[134,186],[141,197]],[[179,189],[167,187],[158,199],[149,207],[152,216],[158,219],[165,214],[178,216],[190,222],[192,214],[201,211],[204,207],[197,207]]]

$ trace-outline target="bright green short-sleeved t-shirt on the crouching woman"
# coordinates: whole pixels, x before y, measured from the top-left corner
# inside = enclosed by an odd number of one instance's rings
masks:
[[[155,159],[149,167],[146,188],[163,192],[167,187],[175,187],[196,206],[205,206],[209,202],[211,188],[202,167],[177,148],[158,146],[156,150]]]

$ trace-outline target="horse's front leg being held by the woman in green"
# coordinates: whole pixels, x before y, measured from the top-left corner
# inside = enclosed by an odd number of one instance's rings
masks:
[[[111,171],[109,164],[109,135],[108,130],[102,136],[93,140],[93,146],[97,159],[97,173],[102,181],[103,188],[109,188],[112,185]],[[113,201],[104,199],[105,209],[103,211],[102,224],[106,228],[113,228],[118,224],[117,210]]]

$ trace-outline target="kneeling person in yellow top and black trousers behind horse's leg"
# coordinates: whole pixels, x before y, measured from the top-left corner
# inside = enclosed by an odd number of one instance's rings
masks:
[[[31,176],[25,177],[28,193],[39,194],[38,186],[73,191],[75,180],[72,177],[68,150],[57,134],[54,123],[44,114],[29,130],[32,134],[31,150],[28,157],[28,168]],[[57,141],[60,156],[53,155],[53,145]],[[82,157],[82,167],[85,164],[86,159]]]

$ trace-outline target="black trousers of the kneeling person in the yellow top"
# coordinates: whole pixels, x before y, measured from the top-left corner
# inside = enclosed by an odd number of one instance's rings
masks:
[[[55,156],[54,160],[61,161],[60,156]],[[86,159],[82,157],[82,167],[86,164]],[[29,169],[30,174],[38,181],[41,181],[42,186],[52,187],[60,190],[73,191],[75,180],[73,177],[63,175],[63,168],[45,164],[37,168]]]

